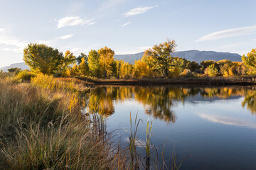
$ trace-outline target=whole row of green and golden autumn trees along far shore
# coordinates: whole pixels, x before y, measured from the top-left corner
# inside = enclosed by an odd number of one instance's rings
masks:
[[[166,40],[145,50],[142,59],[134,64],[114,60],[114,50],[102,47],[75,57],[69,50],[63,54],[58,49],[43,44],[30,43],[23,50],[23,60],[32,72],[53,74],[55,77],[96,77],[102,79],[173,78],[173,77],[233,77],[256,72],[256,52],[252,49],[242,62],[230,60],[203,61],[200,64],[174,57],[174,40]],[[11,70],[14,71],[14,70]]]

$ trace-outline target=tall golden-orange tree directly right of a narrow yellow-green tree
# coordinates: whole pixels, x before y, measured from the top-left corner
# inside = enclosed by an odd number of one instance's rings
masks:
[[[104,47],[97,51],[100,55],[100,67],[102,67],[104,78],[110,77],[112,72],[111,64],[114,62],[114,51]]]

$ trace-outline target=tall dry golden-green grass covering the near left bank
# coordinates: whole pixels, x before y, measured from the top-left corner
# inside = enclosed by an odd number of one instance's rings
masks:
[[[80,115],[75,94],[31,82],[0,80],[0,169],[124,167],[124,159],[111,154],[98,119]]]

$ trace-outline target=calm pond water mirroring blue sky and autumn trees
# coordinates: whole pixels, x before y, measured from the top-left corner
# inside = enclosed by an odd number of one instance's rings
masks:
[[[175,143],[181,169],[256,169],[256,91],[245,87],[101,86],[90,93],[87,111],[107,115],[107,130],[129,137],[129,115],[146,137],[153,120],[152,142],[165,143],[169,159]],[[159,147],[161,152],[161,147]]]

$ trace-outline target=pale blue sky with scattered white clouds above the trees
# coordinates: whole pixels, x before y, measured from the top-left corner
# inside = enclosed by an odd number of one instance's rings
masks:
[[[134,54],[175,40],[176,51],[246,55],[256,48],[255,0],[0,0],[0,68],[28,43],[75,55],[110,47]]]

